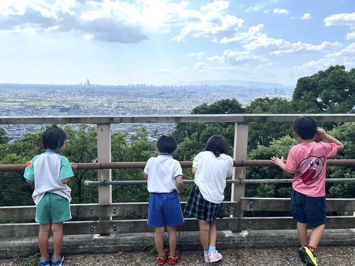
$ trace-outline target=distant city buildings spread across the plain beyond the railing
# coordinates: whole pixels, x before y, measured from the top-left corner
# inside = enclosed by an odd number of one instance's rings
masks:
[[[202,103],[213,103],[220,99],[237,99],[246,106],[261,97],[290,100],[293,93],[293,88],[265,89],[237,85],[91,86],[89,80],[85,85],[0,84],[0,116],[184,115]],[[44,125],[0,127],[5,128],[13,140],[21,138],[25,132],[34,133],[45,128]],[[89,127],[95,128],[96,125]],[[170,133],[175,125],[115,124],[112,130],[124,133],[129,138],[137,127],[145,127],[149,137],[154,139],[160,134]]]

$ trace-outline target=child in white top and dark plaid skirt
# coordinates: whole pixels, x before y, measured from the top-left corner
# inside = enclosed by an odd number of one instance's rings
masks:
[[[195,184],[186,203],[184,214],[199,219],[200,239],[204,260],[215,262],[222,259],[216,250],[216,218],[223,218],[224,189],[226,178],[233,175],[233,159],[225,155],[227,144],[222,137],[212,136],[205,150],[192,164]]]

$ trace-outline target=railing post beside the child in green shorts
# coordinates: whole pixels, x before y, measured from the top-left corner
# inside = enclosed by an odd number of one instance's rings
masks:
[[[97,124],[97,162],[111,163],[111,124]],[[98,180],[111,181],[111,169],[98,170]],[[98,203],[112,203],[111,185],[98,187]],[[100,221],[111,219],[99,217]]]

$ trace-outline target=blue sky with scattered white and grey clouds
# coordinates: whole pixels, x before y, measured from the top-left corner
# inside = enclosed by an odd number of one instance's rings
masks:
[[[295,85],[355,67],[354,0],[0,0],[0,83]]]

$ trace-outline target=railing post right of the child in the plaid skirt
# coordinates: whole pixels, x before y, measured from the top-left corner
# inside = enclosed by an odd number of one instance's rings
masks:
[[[247,148],[248,148],[248,123],[235,123],[235,132],[234,132],[234,151],[233,157],[235,161],[246,160]],[[245,179],[245,170],[246,167],[234,167],[233,179],[239,180]],[[240,202],[240,198],[244,197],[245,184],[237,183],[232,184],[232,196],[231,201]],[[243,217],[243,211],[239,210],[238,215],[234,217]]]

